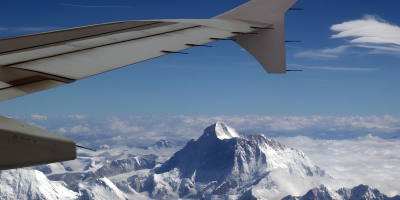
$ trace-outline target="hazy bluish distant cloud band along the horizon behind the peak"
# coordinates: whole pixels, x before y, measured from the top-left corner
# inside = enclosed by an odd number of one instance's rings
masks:
[[[319,139],[357,138],[372,134],[381,138],[398,137],[400,119],[392,116],[170,116],[170,117],[86,117],[70,115],[14,117],[49,131],[74,138],[81,143],[149,145],[162,138],[184,144],[197,138],[217,121],[246,134],[267,137],[297,135]],[[104,141],[103,141],[104,139]],[[112,140],[110,142],[110,139]]]

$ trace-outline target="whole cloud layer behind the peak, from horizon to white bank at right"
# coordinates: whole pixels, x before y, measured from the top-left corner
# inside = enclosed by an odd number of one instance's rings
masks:
[[[388,196],[400,194],[400,119],[392,116],[170,116],[14,117],[65,135],[86,146],[145,146],[160,139],[183,145],[217,121],[246,134],[264,134],[305,152],[339,185],[367,184]],[[337,182],[336,182],[337,183]],[[326,184],[326,183],[325,183]],[[309,189],[309,188],[308,188]],[[299,191],[300,192],[300,191]]]

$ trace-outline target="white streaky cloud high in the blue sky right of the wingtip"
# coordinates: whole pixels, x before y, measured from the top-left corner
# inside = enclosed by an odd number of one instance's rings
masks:
[[[334,24],[331,30],[338,32],[331,36],[332,39],[350,39],[348,44],[334,48],[300,50],[294,56],[333,59],[344,54],[400,55],[400,27],[379,16],[365,15],[362,19]]]

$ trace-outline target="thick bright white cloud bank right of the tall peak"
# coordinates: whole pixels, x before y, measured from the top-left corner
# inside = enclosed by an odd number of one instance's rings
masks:
[[[276,138],[287,146],[301,149],[316,165],[340,181],[325,184],[354,187],[366,184],[386,195],[400,194],[400,140],[371,135],[349,140],[315,140],[304,136]]]

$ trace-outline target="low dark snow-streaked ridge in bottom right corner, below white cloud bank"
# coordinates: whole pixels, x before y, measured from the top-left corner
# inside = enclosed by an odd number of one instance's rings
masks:
[[[367,185],[359,185],[352,189],[340,188],[333,191],[324,185],[313,188],[304,196],[286,196],[282,200],[399,200],[400,196],[393,198],[379,192]]]

